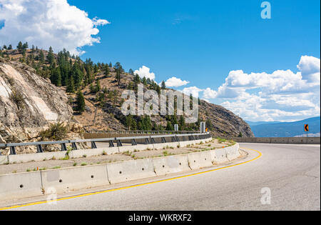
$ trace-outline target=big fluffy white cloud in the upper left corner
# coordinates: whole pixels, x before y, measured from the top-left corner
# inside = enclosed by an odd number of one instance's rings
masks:
[[[81,47],[99,43],[97,26],[110,24],[105,19],[89,19],[88,14],[66,0],[0,0],[0,44],[28,41],[54,51],[63,48],[81,54]]]

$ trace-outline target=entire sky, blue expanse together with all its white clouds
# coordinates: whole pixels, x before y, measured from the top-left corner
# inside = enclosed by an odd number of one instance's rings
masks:
[[[33,2],[0,0],[0,44],[19,38],[81,48],[82,59],[120,61],[126,71],[146,66],[156,81],[188,81],[176,89],[198,90],[250,121],[320,116],[320,1],[269,1],[272,19],[261,18],[259,0]],[[20,26],[39,28],[32,11],[50,17],[39,34]]]

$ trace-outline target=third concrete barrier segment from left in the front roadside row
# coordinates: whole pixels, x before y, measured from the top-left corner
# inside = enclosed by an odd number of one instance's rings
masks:
[[[151,159],[138,159],[107,164],[107,172],[111,184],[156,176]]]

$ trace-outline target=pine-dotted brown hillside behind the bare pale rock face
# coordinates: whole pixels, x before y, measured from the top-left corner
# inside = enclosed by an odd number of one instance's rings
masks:
[[[78,56],[71,56],[66,49],[54,54],[51,48],[49,51],[35,46],[29,48],[27,43],[19,43],[16,49],[12,46],[1,49],[0,57],[21,67],[24,65],[25,71],[33,71],[65,92],[66,102],[73,109],[71,119],[87,130],[172,131],[174,124],[179,124],[180,130],[199,130],[200,121],[206,121],[215,136],[253,136],[243,119],[222,106],[200,99],[200,113],[195,124],[186,124],[184,116],[176,115],[123,116],[123,90],[136,91],[138,84],[144,84],[146,89],[153,89],[159,94],[166,87],[165,82],[158,85],[153,80],[139,77],[133,69],[124,71],[119,62],[95,64],[91,59],[82,61]]]

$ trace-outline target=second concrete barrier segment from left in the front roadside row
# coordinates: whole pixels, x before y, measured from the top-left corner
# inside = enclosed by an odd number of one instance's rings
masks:
[[[109,185],[106,165],[103,164],[41,171],[41,176],[44,190],[54,188],[58,194]]]

